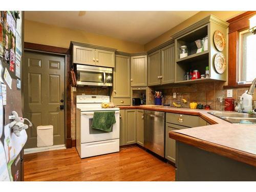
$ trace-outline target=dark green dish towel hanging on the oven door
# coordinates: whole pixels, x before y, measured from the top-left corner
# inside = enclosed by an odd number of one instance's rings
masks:
[[[114,111],[94,112],[92,128],[111,132],[112,125],[116,123]]]

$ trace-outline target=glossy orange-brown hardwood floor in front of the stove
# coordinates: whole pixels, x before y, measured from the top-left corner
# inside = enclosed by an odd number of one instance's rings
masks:
[[[80,159],[76,148],[25,155],[25,181],[174,181],[175,167],[134,146]]]

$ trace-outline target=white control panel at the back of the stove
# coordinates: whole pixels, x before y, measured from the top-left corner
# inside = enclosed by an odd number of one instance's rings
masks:
[[[76,103],[102,103],[110,102],[110,96],[106,95],[77,95]]]

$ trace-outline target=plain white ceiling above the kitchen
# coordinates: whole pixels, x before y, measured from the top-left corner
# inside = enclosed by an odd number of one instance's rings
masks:
[[[198,11],[26,11],[25,19],[144,45],[196,13]]]

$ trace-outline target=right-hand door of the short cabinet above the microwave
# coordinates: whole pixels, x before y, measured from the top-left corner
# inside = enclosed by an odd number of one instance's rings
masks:
[[[115,53],[112,51],[105,51],[96,49],[96,66],[115,67]]]

